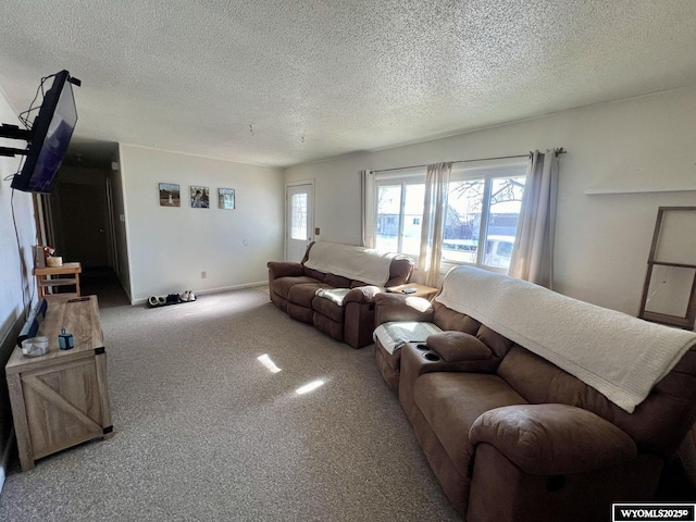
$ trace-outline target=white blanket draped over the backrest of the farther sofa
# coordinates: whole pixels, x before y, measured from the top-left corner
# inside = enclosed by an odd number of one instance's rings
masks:
[[[318,241],[310,248],[304,266],[369,285],[384,286],[389,281],[389,266],[396,256],[352,245]]]

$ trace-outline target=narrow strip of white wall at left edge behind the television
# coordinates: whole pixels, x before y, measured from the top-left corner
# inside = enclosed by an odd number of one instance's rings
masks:
[[[20,123],[1,88],[0,123]],[[0,139],[0,145],[24,148],[26,142]],[[24,313],[29,306],[29,299],[33,296],[36,297],[36,285],[32,276],[32,246],[36,243],[32,196],[21,191],[14,192],[14,217],[20,240],[17,245],[10,204],[11,182],[3,181],[7,176],[14,174],[18,165],[18,157],[0,157],[0,368],[4,368],[14,349],[14,339],[24,323]],[[0,375],[3,375],[3,384],[0,385],[0,489],[2,489],[10,448],[12,411],[4,385],[4,372],[0,372]]]

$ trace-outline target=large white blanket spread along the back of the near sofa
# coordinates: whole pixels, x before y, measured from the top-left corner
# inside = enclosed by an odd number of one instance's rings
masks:
[[[452,269],[435,300],[542,356],[629,413],[696,344],[694,332],[470,266]]]

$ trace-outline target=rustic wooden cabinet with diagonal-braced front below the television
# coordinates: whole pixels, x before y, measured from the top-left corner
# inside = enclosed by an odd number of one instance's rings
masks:
[[[15,347],[5,365],[22,471],[41,457],[113,435],[97,297],[48,302],[37,334],[49,338],[48,352],[26,357]],[[70,350],[59,349],[63,327],[75,340]]]

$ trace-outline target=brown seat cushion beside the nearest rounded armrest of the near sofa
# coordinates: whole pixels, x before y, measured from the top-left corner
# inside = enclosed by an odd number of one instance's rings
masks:
[[[413,400],[462,476],[473,455],[469,430],[478,415],[501,406],[527,403],[498,375],[462,372],[421,375],[413,386]]]

